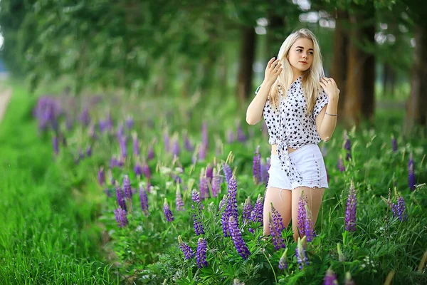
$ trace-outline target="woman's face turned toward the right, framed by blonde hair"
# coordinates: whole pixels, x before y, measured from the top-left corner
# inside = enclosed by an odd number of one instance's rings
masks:
[[[302,73],[307,71],[313,62],[313,42],[308,38],[298,38],[297,41],[290,47],[288,61],[292,66],[292,71]]]

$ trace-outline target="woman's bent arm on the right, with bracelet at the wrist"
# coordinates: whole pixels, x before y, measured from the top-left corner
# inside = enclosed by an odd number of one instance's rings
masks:
[[[317,115],[316,128],[320,138],[327,142],[332,137],[337,125],[336,114],[338,110],[339,89],[337,88],[337,83],[332,78],[322,78],[320,85],[325,90],[329,102],[322,108],[319,115]]]

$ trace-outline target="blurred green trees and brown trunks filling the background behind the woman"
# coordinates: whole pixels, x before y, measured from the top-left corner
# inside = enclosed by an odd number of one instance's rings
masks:
[[[263,73],[286,36],[305,26],[329,59],[344,123],[373,119],[381,66],[385,93],[410,81],[409,132],[427,124],[425,19],[421,0],[1,0],[0,56],[31,88],[62,76],[74,79],[75,93],[101,86],[185,98],[231,86],[245,102],[254,69]]]

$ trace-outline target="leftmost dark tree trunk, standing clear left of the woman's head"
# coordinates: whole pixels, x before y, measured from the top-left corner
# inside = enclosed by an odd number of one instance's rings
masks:
[[[255,29],[252,26],[244,26],[242,28],[240,66],[237,80],[237,95],[240,102],[244,102],[251,94],[254,58]]]

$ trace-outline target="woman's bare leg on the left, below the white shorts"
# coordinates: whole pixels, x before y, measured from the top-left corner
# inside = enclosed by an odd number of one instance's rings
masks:
[[[280,197],[282,199],[280,199]],[[292,217],[292,192],[286,189],[268,187],[267,192],[265,192],[263,210],[264,235],[270,234],[270,228],[268,227],[268,213],[271,212],[271,202],[273,202],[273,206],[278,210],[280,216],[282,216],[283,226],[285,226],[285,228],[288,227],[290,218]]]

